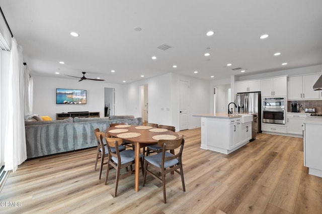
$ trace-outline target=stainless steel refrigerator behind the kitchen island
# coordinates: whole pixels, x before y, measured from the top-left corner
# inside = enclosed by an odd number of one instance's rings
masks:
[[[253,114],[252,138],[262,132],[261,127],[261,92],[237,93],[236,105],[238,113]]]

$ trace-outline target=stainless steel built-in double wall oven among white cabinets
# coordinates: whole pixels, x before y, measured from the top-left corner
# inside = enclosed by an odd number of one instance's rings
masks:
[[[262,98],[262,122],[285,124],[285,97]]]

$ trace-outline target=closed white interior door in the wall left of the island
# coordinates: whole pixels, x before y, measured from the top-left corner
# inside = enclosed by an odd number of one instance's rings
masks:
[[[189,128],[189,82],[180,81],[180,131]]]

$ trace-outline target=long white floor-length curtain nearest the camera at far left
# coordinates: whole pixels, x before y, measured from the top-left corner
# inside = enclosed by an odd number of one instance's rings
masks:
[[[7,132],[5,137],[5,170],[16,171],[18,165],[27,159],[26,136],[24,125],[25,83],[22,48],[12,38],[8,112],[6,118]]]

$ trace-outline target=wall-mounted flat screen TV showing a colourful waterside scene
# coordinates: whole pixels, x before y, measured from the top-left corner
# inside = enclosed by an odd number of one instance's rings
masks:
[[[56,88],[56,104],[86,104],[86,90]]]

